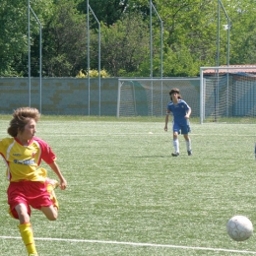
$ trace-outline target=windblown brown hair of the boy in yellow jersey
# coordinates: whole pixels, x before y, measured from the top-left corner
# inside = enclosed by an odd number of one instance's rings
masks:
[[[38,122],[40,118],[40,113],[38,109],[32,107],[20,107],[14,110],[13,119],[10,121],[10,126],[7,132],[12,137],[16,137],[18,130],[24,131],[26,124],[30,119],[34,119]]]

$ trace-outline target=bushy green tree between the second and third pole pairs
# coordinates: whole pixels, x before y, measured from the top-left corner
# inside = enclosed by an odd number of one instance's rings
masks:
[[[113,76],[134,74],[149,56],[148,27],[139,15],[126,15],[112,26],[102,24],[101,65]],[[92,57],[96,58],[96,38]],[[96,67],[95,67],[96,68]]]

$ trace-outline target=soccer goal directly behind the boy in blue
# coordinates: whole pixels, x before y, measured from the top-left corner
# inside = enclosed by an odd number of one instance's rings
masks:
[[[162,116],[169,91],[178,88],[181,96],[199,116],[200,78],[119,79],[116,116]]]

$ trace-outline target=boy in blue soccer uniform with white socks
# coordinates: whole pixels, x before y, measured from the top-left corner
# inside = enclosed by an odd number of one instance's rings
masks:
[[[170,102],[167,104],[167,111],[165,116],[165,126],[164,131],[167,131],[167,124],[169,119],[170,112],[173,115],[172,121],[172,131],[173,131],[173,146],[174,153],[171,154],[172,157],[179,156],[179,141],[178,135],[183,134],[184,139],[186,141],[187,153],[188,156],[192,156],[191,151],[191,140],[188,136],[190,132],[189,126],[189,116],[191,114],[191,107],[181,98],[179,90],[177,88],[173,88],[169,92]]]

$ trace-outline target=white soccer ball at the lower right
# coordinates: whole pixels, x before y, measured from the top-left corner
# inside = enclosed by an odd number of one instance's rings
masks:
[[[244,241],[253,233],[253,225],[245,216],[234,216],[226,224],[228,235],[235,241]]]

